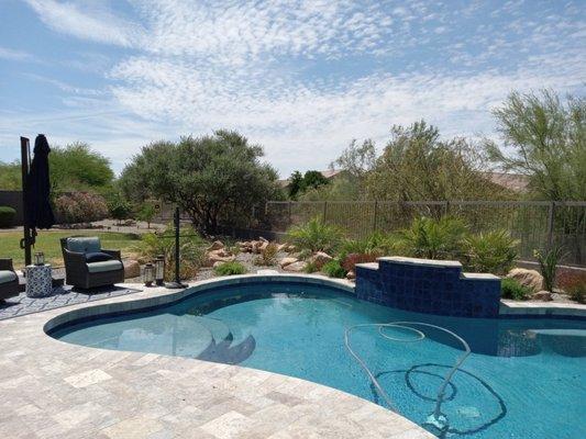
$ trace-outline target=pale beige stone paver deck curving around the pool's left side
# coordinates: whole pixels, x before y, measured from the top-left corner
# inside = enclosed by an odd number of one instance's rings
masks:
[[[177,293],[150,289],[100,305],[168,294]],[[87,306],[0,322],[0,438],[433,438],[383,407],[308,381],[69,345],[43,331],[51,318]]]

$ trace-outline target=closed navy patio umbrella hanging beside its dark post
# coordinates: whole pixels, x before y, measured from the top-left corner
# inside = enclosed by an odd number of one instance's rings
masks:
[[[55,224],[53,209],[51,207],[51,183],[48,180],[48,147],[47,138],[40,134],[34,140],[34,157],[31,170],[26,176],[26,205],[24,218],[32,229],[51,228]],[[34,244],[33,232],[33,243]]]

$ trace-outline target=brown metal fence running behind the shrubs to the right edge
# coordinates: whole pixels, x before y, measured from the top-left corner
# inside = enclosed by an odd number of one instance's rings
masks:
[[[361,238],[374,230],[398,230],[418,216],[443,215],[462,218],[475,233],[509,230],[519,239],[523,259],[532,259],[534,249],[562,245],[565,263],[586,266],[586,201],[270,201],[256,210],[255,217],[259,228],[272,232],[320,217]]]

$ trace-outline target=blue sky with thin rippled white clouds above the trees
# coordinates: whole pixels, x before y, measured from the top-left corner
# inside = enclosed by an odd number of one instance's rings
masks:
[[[237,130],[281,177],[424,119],[496,137],[512,90],[585,94],[586,0],[0,0],[0,161]]]

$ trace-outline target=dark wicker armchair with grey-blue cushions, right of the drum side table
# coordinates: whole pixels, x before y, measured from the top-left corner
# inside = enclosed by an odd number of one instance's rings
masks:
[[[77,240],[73,246],[71,240]],[[102,262],[88,262],[86,251],[80,251],[79,241],[84,239],[97,240],[97,250],[109,255],[112,259]],[[65,282],[84,290],[98,286],[113,285],[124,282],[124,266],[120,258],[120,250],[104,250],[101,248],[98,238],[75,237],[60,238],[63,259],[65,261]]]

